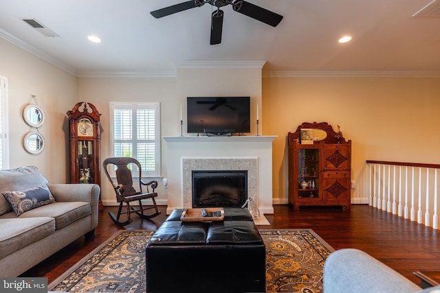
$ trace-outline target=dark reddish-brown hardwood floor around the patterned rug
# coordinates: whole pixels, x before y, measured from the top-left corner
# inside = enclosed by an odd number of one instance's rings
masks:
[[[166,207],[160,207],[162,215],[152,220],[134,216],[127,230],[156,230],[166,219]],[[52,257],[22,274],[22,277],[47,277],[49,283],[65,270],[105,242],[121,228],[110,220],[108,211],[116,207],[104,207],[100,211],[96,237],[76,240]],[[273,215],[265,215],[269,226],[260,229],[311,228],[335,249],[359,248],[386,263],[419,285],[412,272],[416,270],[440,270],[439,232],[421,224],[398,218],[385,211],[364,204],[353,204],[351,210],[340,207],[302,207],[294,211],[287,205],[275,205]]]

